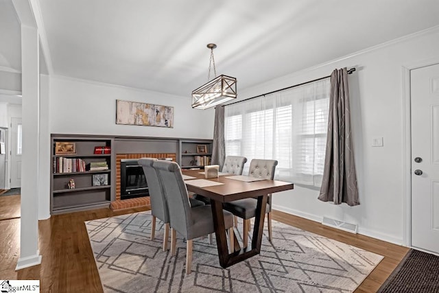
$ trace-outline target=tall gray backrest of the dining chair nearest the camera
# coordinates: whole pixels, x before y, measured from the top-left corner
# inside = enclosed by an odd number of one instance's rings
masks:
[[[187,188],[180,166],[175,162],[161,160],[154,161],[152,166],[156,169],[163,183],[169,209],[169,224],[183,237],[187,237],[188,228],[193,224],[193,220]]]

